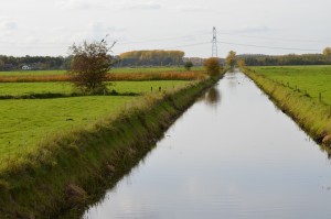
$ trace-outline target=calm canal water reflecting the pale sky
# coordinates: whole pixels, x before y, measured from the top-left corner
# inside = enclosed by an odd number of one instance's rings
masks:
[[[329,155],[227,73],[83,218],[331,218]]]

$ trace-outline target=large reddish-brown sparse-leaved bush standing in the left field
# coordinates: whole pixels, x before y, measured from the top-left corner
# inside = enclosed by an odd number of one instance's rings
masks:
[[[106,89],[104,81],[106,75],[114,65],[109,54],[113,46],[108,46],[105,40],[83,45],[73,44],[70,47],[72,63],[68,74],[73,83],[84,92],[98,94]]]

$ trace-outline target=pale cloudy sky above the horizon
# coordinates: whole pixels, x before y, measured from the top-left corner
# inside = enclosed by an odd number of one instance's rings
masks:
[[[221,57],[321,53],[331,46],[330,21],[331,0],[1,0],[0,54],[67,55],[73,42],[109,34],[116,54],[173,48],[207,57],[213,26]]]

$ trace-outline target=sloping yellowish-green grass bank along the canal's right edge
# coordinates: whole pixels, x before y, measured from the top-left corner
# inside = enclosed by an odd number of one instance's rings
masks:
[[[287,114],[289,114],[318,143],[331,146],[331,107],[319,98],[311,97],[300,87],[242,69]],[[279,76],[278,76],[279,77]],[[309,79],[308,79],[309,80]],[[300,81],[300,80],[298,80]],[[322,81],[321,81],[322,83]]]

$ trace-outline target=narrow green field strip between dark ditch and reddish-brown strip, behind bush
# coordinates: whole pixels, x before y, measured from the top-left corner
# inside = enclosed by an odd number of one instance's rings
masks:
[[[119,94],[147,94],[151,91],[172,89],[194,81],[186,80],[151,80],[151,81],[114,81],[108,89]],[[151,89],[152,88],[152,89]],[[70,83],[0,83],[0,96],[23,96],[31,94],[64,94],[70,95],[75,87]]]

